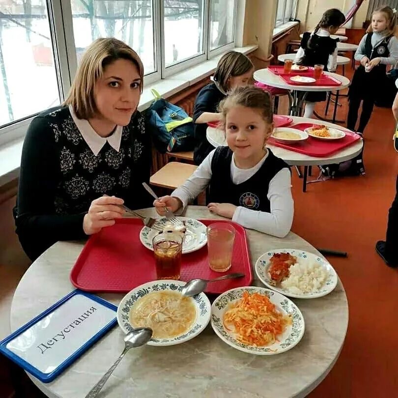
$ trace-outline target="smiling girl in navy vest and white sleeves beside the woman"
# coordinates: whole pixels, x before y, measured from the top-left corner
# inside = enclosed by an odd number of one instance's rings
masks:
[[[266,91],[236,87],[220,103],[228,146],[214,149],[171,196],[154,201],[159,214],[176,212],[208,185],[208,208],[246,228],[284,237],[293,221],[290,170],[265,147],[273,130]]]

